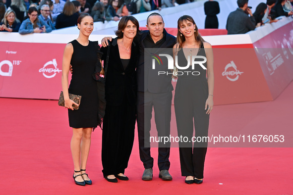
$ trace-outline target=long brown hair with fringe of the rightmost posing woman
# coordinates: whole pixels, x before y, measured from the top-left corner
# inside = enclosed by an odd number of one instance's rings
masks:
[[[200,45],[203,44],[204,39],[201,37],[201,35],[198,33],[198,28],[193,20],[193,18],[189,15],[183,15],[178,19],[177,22],[177,28],[178,28],[178,32],[177,32],[177,43],[179,44],[179,48],[183,47],[183,43],[185,42],[185,37],[184,35],[180,36],[181,33],[179,31],[180,29],[180,25],[182,24],[183,21],[189,21],[192,22],[195,25],[195,32],[194,32],[194,37],[195,37],[195,42],[199,43]]]

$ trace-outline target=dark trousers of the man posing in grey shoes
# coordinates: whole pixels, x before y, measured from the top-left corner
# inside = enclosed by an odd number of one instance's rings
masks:
[[[145,169],[152,168],[154,158],[150,151],[151,118],[154,108],[155,122],[158,136],[170,136],[172,92],[154,94],[138,92],[137,94],[137,128],[139,156]],[[159,170],[170,168],[170,143],[159,143],[158,148]]]

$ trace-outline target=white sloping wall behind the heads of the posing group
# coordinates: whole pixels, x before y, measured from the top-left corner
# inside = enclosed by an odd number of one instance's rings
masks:
[[[196,25],[199,29],[204,29],[204,22],[206,15],[204,14],[203,4],[206,0],[200,0],[192,3],[181,4],[176,7],[164,8],[161,11],[155,11],[160,13],[165,22],[166,28],[177,28],[177,20],[182,15],[190,15],[193,17]],[[217,15],[219,20],[219,29],[226,29],[226,22],[230,12],[234,11],[237,6],[237,0],[217,0],[220,5],[220,13]],[[248,4],[252,6],[252,12],[255,11],[256,6],[266,0],[249,0]],[[134,14],[133,16],[138,20],[140,26],[146,25],[146,19],[150,13],[154,11]],[[108,35],[114,34],[117,29],[118,21],[110,21],[105,23],[96,22],[94,25],[93,34]],[[69,27],[53,31],[54,34],[78,34],[76,27]]]

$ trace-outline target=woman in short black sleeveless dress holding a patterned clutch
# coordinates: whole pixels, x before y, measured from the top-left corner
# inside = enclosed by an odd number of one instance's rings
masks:
[[[65,108],[68,108],[69,126],[73,129],[70,143],[74,174],[77,185],[91,185],[92,181],[85,173],[87,158],[91,144],[92,129],[98,125],[98,91],[97,83],[92,74],[96,64],[100,63],[97,52],[97,42],[88,40],[93,31],[94,20],[88,13],[81,14],[77,20],[79,36],[68,43],[64,49],[62,62],[62,89]],[[68,89],[69,66],[74,72]],[[101,67],[101,64],[99,64]],[[78,110],[72,105],[78,105],[69,99],[68,93],[82,96]]]

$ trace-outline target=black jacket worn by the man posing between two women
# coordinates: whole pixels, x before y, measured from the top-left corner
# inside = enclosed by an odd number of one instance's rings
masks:
[[[144,51],[145,46],[143,44],[143,40],[148,36],[149,31],[142,31],[139,41],[139,60],[136,69],[136,76],[137,76],[137,90],[139,92],[146,92],[149,91],[151,93],[166,93],[172,92],[172,75],[158,75],[158,71],[166,71],[171,72],[168,69],[168,62],[166,57],[162,57],[164,66],[156,66],[156,69],[152,69],[151,61],[145,61],[144,59]],[[164,48],[173,48],[176,44],[176,38],[173,35],[167,33],[164,29],[166,40],[160,49],[154,49],[155,52],[158,54],[161,52],[161,49]],[[172,49],[170,49],[172,51]],[[173,53],[170,53],[173,56]],[[165,60],[165,61],[164,61]],[[146,63],[145,63],[146,62]]]

